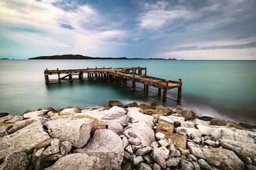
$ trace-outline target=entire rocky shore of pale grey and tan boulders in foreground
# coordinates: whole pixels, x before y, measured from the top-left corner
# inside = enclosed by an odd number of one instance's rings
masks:
[[[0,113],[0,169],[256,169],[256,127],[180,106]]]

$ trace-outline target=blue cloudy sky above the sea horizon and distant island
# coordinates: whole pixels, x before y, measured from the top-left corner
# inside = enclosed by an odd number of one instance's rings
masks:
[[[255,0],[0,0],[0,58],[256,60]]]

